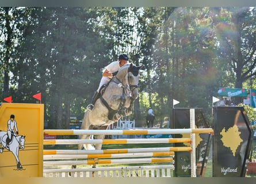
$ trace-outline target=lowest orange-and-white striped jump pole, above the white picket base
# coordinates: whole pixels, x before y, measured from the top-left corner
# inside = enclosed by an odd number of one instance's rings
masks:
[[[113,159],[113,160],[67,160],[67,161],[47,161],[44,166],[64,166],[64,165],[94,165],[94,164],[131,164],[131,163],[161,163],[173,162],[173,158],[143,158],[143,159]]]

